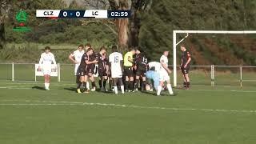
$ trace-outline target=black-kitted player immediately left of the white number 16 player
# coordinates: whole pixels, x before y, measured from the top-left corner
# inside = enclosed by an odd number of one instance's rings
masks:
[[[104,46],[101,47],[98,55],[98,85],[102,91],[106,91],[106,81],[107,81],[107,73],[109,70],[109,62],[106,57],[106,48]],[[103,82],[103,86],[102,86]]]

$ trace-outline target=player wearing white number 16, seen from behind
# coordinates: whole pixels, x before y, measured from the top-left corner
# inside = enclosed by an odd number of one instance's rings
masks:
[[[112,46],[113,53],[109,56],[109,64],[111,70],[111,78],[113,79],[114,93],[118,94],[118,85],[121,86],[122,94],[124,94],[124,86],[122,82],[123,58],[118,53],[118,47]]]

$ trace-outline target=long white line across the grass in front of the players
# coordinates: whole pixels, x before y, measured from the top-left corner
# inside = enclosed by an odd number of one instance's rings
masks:
[[[39,102],[39,103],[0,103],[0,106],[115,106],[130,107],[138,109],[155,109],[155,110],[177,110],[177,111],[205,111],[205,112],[225,112],[225,113],[253,113],[256,110],[225,110],[225,109],[198,109],[198,108],[175,108],[162,106],[134,106],[114,103],[94,103],[94,102],[59,102],[59,101],[38,101],[38,100],[2,100],[0,102]],[[41,102],[41,103],[40,103]]]

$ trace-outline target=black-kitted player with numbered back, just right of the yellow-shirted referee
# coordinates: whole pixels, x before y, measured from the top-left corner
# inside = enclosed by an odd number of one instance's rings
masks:
[[[146,70],[147,70],[147,58],[141,50],[136,50],[135,67],[136,67],[136,80],[135,90],[138,90],[138,82],[142,79],[141,90],[145,90],[146,86]]]

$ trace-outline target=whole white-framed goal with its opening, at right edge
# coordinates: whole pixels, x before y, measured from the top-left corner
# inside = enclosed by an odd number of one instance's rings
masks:
[[[192,54],[191,82],[256,86],[256,30],[174,30],[174,86],[182,86],[180,45]]]

